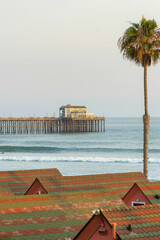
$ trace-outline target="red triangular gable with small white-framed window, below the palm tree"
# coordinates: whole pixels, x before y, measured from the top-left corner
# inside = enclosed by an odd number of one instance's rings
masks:
[[[122,200],[127,206],[151,204],[147,196],[136,183],[130,188]]]

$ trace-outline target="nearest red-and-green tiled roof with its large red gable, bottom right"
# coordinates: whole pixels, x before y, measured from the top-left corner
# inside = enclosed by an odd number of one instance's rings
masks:
[[[116,229],[112,227],[112,223]],[[106,230],[104,234],[99,232],[102,225],[102,230]],[[100,211],[90,218],[74,239],[92,240],[92,237],[94,240],[158,240],[160,239],[160,205],[110,208],[105,209],[103,213]]]

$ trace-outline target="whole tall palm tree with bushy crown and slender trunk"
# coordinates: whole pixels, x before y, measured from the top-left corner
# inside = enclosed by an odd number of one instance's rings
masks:
[[[131,23],[124,35],[118,40],[118,46],[124,58],[134,61],[144,68],[144,147],[143,172],[148,177],[148,139],[149,121],[147,95],[147,67],[156,64],[160,59],[160,28],[155,20],[146,20],[142,17],[139,23]]]

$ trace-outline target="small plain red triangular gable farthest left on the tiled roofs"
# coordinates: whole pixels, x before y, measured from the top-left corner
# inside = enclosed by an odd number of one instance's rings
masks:
[[[34,180],[32,185],[28,188],[28,190],[25,193],[25,195],[33,195],[33,194],[48,194],[48,192],[43,187],[43,185],[41,184],[38,178]]]

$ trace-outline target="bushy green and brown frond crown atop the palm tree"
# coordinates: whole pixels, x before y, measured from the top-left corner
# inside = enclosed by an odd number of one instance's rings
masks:
[[[142,17],[140,23],[130,23],[118,46],[123,57],[144,66],[154,64],[160,59],[160,29],[155,20]]]

